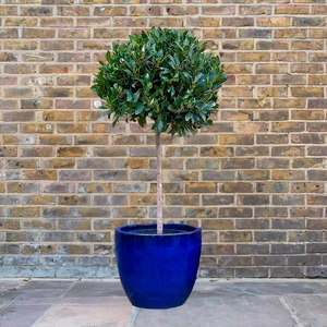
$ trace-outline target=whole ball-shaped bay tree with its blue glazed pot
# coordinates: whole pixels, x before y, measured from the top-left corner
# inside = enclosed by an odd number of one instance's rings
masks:
[[[226,76],[219,58],[205,48],[187,31],[153,27],[130,35],[107,52],[92,86],[113,126],[121,117],[141,126],[153,121],[156,134],[157,223],[116,229],[119,275],[134,306],[182,305],[196,279],[201,228],[162,223],[160,134],[190,136],[213,123]]]

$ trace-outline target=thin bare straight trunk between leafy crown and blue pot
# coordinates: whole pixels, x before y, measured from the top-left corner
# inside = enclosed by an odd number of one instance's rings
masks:
[[[162,148],[160,133],[156,133],[157,150],[157,233],[162,234]]]

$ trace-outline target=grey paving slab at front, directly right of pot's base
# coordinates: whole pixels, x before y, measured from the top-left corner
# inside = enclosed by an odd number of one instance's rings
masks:
[[[293,327],[294,322],[278,296],[191,296],[180,307],[140,310],[134,326],[156,327]],[[199,325],[201,324],[201,325]]]

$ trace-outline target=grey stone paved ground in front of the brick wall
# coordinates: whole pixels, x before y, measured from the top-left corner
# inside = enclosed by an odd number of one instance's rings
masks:
[[[196,282],[180,307],[133,307],[118,280],[0,279],[0,327],[327,327],[327,280]]]

